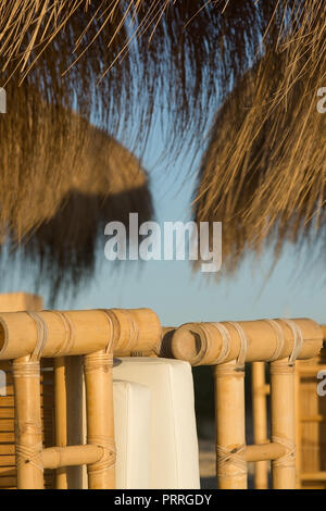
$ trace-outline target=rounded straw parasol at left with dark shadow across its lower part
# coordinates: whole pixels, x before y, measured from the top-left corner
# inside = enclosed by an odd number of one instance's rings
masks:
[[[111,220],[152,215],[139,161],[105,132],[30,87],[8,90],[0,117],[2,245],[35,261],[38,279],[60,289],[89,277]]]

